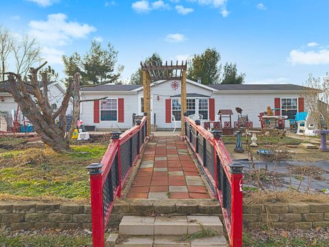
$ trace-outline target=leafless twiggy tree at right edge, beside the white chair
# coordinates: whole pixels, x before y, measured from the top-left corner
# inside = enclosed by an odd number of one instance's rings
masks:
[[[301,94],[306,101],[308,111],[314,118],[317,127],[329,127],[329,74],[321,78],[312,75],[305,83]]]

